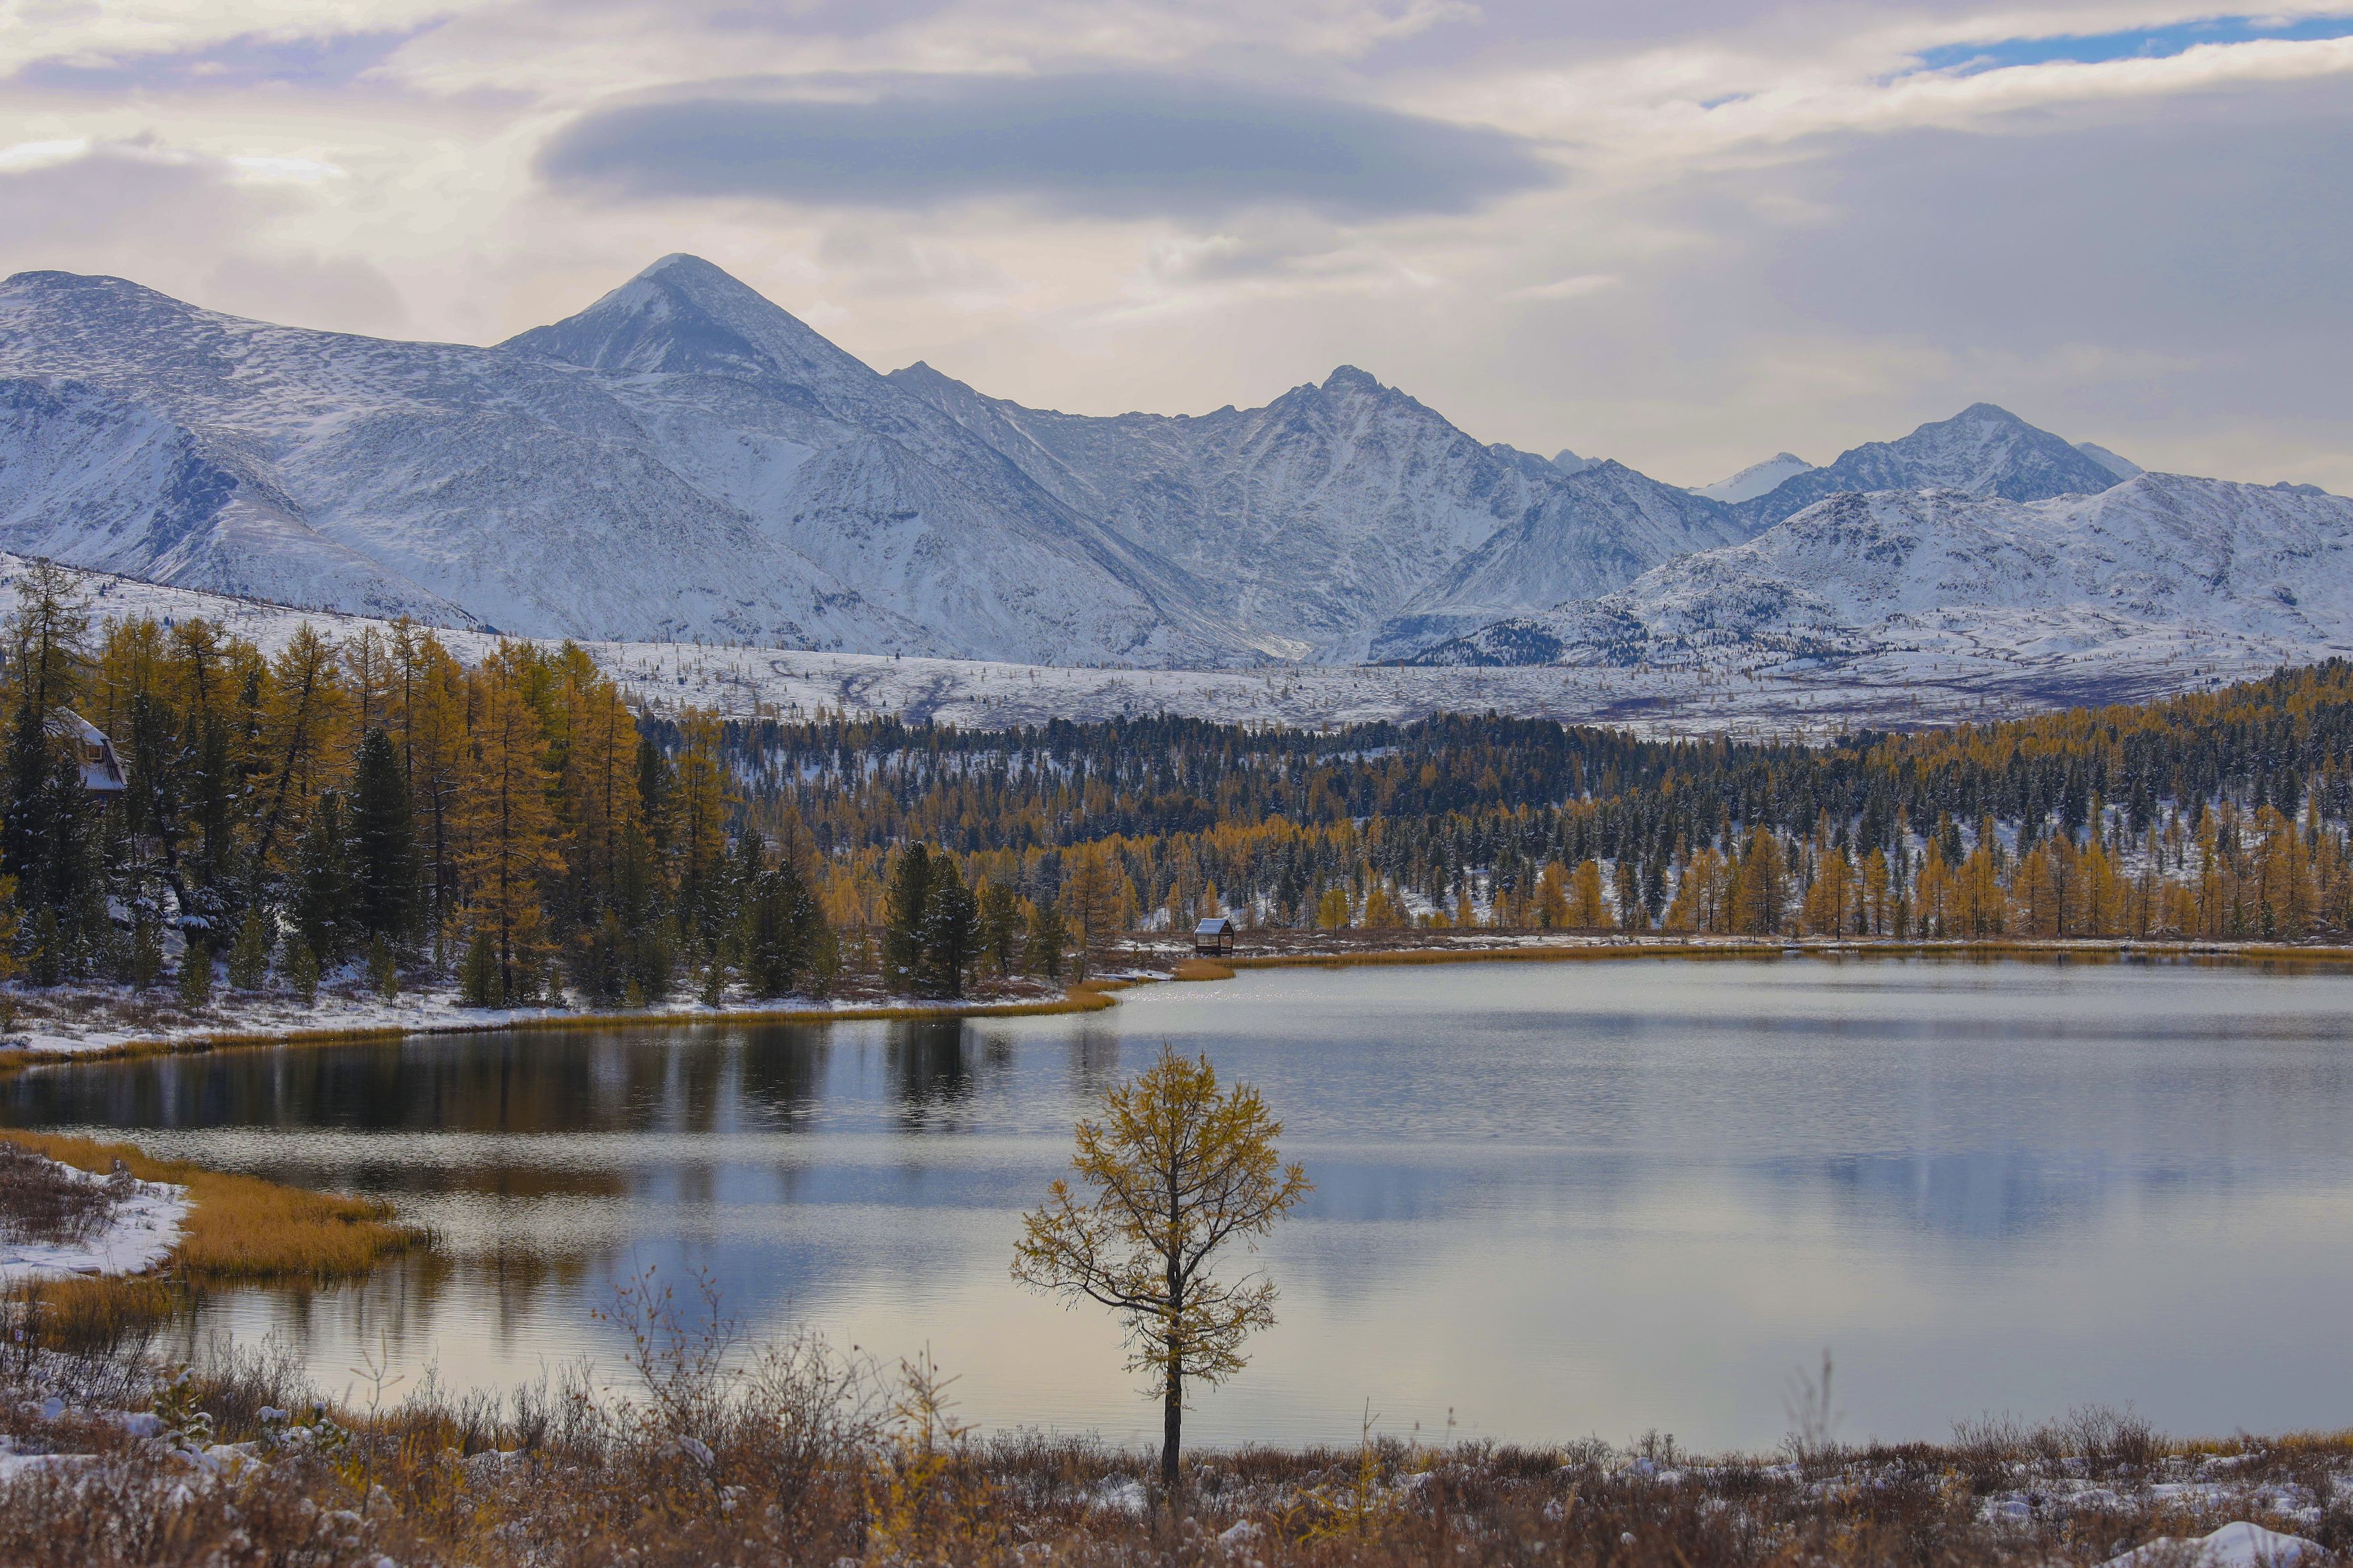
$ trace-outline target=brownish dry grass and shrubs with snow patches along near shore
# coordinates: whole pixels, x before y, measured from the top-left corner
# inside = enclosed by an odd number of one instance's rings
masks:
[[[151,1382],[160,1441],[38,1415],[19,1394],[40,1389],[9,1385],[31,1363],[0,1352],[0,1434],[19,1453],[89,1455],[0,1483],[0,1561],[2024,1568],[2233,1519],[2337,1556],[2353,1544],[2346,1439],[2184,1446],[2108,1410],[1974,1422],[1951,1443],[1793,1439],[1777,1455],[1694,1458],[1659,1436],[1200,1453],[1172,1521],[1146,1453],[979,1439],[929,1366],[885,1371],[809,1338],[748,1347],[687,1316],[649,1279],[621,1293],[635,1378],[619,1392],[569,1378],[332,1410],[285,1366],[228,1354]],[[228,1483],[188,1486],[186,1453],[207,1443]]]

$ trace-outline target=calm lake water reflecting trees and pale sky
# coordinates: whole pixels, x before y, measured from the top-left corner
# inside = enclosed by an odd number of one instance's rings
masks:
[[[1259,971],[965,1025],[478,1034],[24,1072],[0,1119],[391,1197],[447,1260],[216,1300],[341,1389],[593,1356],[614,1284],[925,1347],[984,1429],[1158,1434],[1113,1326],[1007,1276],[1071,1119],[1160,1041],[1287,1121],[1318,1190],[1202,1441],[1673,1432],[1769,1446],[2134,1403],[2353,1422],[2353,978],[1624,961]]]

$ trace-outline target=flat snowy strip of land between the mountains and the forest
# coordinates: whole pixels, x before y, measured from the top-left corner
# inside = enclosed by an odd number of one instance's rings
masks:
[[[19,557],[0,555],[0,581],[14,581],[21,571]],[[285,646],[306,621],[327,637],[384,625],[106,574],[80,576],[101,618],[205,616],[266,651]],[[485,632],[438,635],[468,663],[499,642]],[[1866,651],[1835,663],[1729,644],[1704,649],[1694,663],[1673,668],[1071,670],[664,642],[581,646],[654,712],[706,708],[727,717],[791,719],[824,710],[993,729],[1162,712],[1233,724],[1325,726],[1492,710],[1612,724],[1645,736],[1913,729],[2075,703],[2141,701],[2344,651],[2254,635],[2188,639],[2172,625],[2094,609],[1899,616],[1873,630]]]

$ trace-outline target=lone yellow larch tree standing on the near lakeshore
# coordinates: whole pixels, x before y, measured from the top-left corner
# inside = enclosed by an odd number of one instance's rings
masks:
[[[1219,1279],[1235,1239],[1264,1237],[1313,1182],[1282,1164],[1282,1124],[1249,1084],[1219,1088],[1209,1058],[1162,1046],[1144,1074],[1104,1093],[1101,1119],[1078,1124],[1071,1168],[1024,1220],[1014,1279],[1125,1319],[1129,1371],[1158,1385],[1160,1481],[1179,1497],[1188,1382],[1242,1371],[1242,1340],[1275,1321],[1275,1281],[1252,1269]]]

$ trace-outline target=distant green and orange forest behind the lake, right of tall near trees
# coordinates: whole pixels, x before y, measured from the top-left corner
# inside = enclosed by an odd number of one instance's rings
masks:
[[[664,750],[680,731],[649,722]],[[1322,731],[1202,719],[958,731],[727,724],[833,919],[929,842],[1096,924],[1501,924],[1894,938],[2299,938],[2353,926],[2353,665],[1828,745],[1544,719]],[[1066,900],[1068,903],[1068,900]],[[1094,907],[1106,905],[1106,907]]]

